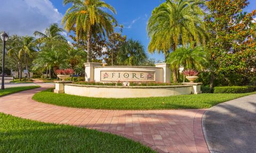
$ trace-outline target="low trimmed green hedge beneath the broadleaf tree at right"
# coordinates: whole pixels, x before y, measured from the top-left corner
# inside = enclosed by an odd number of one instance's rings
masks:
[[[214,94],[239,94],[256,91],[256,86],[214,87]]]

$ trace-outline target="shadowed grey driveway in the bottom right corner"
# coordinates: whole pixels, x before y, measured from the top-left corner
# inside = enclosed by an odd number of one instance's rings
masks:
[[[203,127],[211,152],[256,152],[256,95],[210,108]]]

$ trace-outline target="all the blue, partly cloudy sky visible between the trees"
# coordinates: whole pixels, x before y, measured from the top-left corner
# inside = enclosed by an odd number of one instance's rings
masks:
[[[224,0],[223,0],[224,1]],[[105,0],[115,7],[118,24],[124,25],[123,35],[139,40],[145,46],[149,44],[147,37],[147,21],[153,9],[164,0]],[[244,11],[256,9],[256,1]],[[63,6],[63,0],[0,0],[0,31],[9,35],[31,36],[35,30],[44,32],[52,23],[59,23],[70,5]],[[63,33],[67,36],[67,33]],[[148,54],[149,58],[163,61],[163,54]]]

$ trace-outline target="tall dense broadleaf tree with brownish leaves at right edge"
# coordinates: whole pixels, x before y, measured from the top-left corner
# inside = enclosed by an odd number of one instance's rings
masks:
[[[206,3],[209,14],[206,25],[210,33],[207,51],[211,54],[211,88],[215,85],[243,85],[255,76],[256,10],[242,13],[247,0]]]

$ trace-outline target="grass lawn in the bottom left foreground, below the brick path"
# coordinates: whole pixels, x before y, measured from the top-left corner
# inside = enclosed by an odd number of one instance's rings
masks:
[[[117,135],[0,113],[0,152],[155,152]]]

